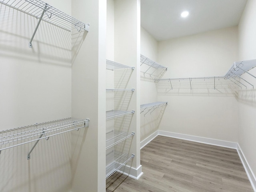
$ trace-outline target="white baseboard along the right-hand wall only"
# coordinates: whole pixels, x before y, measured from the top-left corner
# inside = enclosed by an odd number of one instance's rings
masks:
[[[250,181],[250,183],[252,185],[252,188],[253,188],[254,192],[256,192],[256,177],[253,174],[252,169],[250,168],[250,166],[249,166],[249,164],[248,164],[248,162],[247,162],[247,160],[246,160],[246,158],[244,156],[244,153],[242,152],[239,144],[238,144],[236,150],[237,150],[237,153],[238,153],[238,155],[240,157],[240,160],[242,161],[242,164],[244,166],[244,170],[245,170],[245,172],[246,172],[246,174],[248,176],[248,179],[249,179],[249,181]]]

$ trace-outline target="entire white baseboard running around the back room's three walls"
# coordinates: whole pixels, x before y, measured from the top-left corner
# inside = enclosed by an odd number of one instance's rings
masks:
[[[150,135],[148,138],[140,142],[140,149],[146,146],[146,144],[148,144],[158,135],[236,149],[240,157],[240,160],[244,166],[248,179],[250,180],[252,188],[254,192],[256,192],[256,177],[253,174],[252,169],[250,168],[238,143],[158,130],[154,132],[152,135]]]

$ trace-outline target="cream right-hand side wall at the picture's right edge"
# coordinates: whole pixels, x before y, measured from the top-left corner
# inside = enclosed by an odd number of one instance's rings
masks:
[[[241,17],[239,34],[239,60],[256,59],[256,1],[248,0]],[[256,68],[249,71],[256,76]],[[248,74],[242,75],[254,86],[256,79]],[[239,137],[238,143],[244,156],[254,174],[254,183],[256,182],[256,98],[255,91],[251,88],[247,91],[247,97],[238,98],[239,100]]]

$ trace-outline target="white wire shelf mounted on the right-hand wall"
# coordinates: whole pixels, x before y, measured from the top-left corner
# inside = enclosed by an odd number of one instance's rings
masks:
[[[256,66],[256,59],[234,62],[225,77],[236,77],[248,72]]]

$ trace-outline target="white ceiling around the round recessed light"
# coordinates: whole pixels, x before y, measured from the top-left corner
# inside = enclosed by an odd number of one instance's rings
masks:
[[[247,0],[141,0],[141,26],[162,41],[237,26]],[[186,18],[180,16],[188,11]]]

